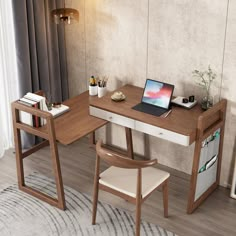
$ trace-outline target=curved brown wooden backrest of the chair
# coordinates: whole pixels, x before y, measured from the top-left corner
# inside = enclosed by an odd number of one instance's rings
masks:
[[[108,163],[111,166],[116,166],[120,168],[140,169],[140,168],[145,168],[145,167],[149,167],[149,166],[153,166],[157,164],[157,159],[148,160],[148,161],[132,160],[126,156],[123,156],[111,150],[108,150],[102,147],[101,139],[98,140],[96,144],[96,152],[97,152],[98,157],[100,157],[106,163]]]

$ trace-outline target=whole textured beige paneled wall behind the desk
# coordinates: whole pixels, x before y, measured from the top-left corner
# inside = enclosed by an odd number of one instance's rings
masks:
[[[80,22],[67,27],[70,95],[85,91],[90,75],[108,75],[108,88],[130,83],[144,86],[146,78],[175,84],[174,95],[202,90],[194,69],[208,65],[217,73],[211,94],[227,98],[227,122],[221,184],[231,181],[235,155],[236,2],[232,0],[68,0],[80,11]],[[234,63],[234,64],[233,64]],[[101,129],[108,143],[125,147],[122,127]],[[182,147],[133,132],[134,150],[191,172],[194,145]],[[150,150],[146,150],[148,144]]]

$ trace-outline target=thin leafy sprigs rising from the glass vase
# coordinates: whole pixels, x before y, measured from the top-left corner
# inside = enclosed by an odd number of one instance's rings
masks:
[[[197,79],[196,83],[205,90],[206,97],[209,97],[211,83],[216,78],[216,73],[212,71],[210,65],[208,66],[208,70],[206,71],[194,70],[193,77]]]

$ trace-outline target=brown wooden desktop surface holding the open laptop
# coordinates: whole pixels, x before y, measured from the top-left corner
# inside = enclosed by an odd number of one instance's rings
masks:
[[[189,136],[190,143],[195,141],[197,133],[197,120],[203,113],[200,105],[197,104],[190,110],[173,106],[172,112],[167,117],[156,117],[132,109],[133,106],[141,101],[143,88],[133,85],[125,85],[119,88],[119,91],[122,91],[125,94],[126,99],[124,101],[112,101],[111,95],[113,92],[110,92],[102,98],[94,98],[93,100],[90,100],[90,105],[129,117],[134,120]]]

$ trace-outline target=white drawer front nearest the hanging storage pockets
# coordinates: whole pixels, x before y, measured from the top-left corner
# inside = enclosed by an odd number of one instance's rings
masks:
[[[140,121],[135,121],[134,129],[161,139],[171,141],[173,143],[189,146],[189,136],[178,134]]]

